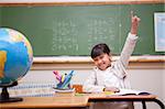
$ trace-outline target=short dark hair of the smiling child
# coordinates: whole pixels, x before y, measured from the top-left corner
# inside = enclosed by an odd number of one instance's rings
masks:
[[[102,53],[106,53],[108,55],[110,54],[110,48],[105,43],[95,45],[91,50],[90,56],[91,56],[91,58],[95,58],[95,57],[101,55]]]

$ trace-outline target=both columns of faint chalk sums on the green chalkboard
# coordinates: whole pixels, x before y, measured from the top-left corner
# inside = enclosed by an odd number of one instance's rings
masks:
[[[92,45],[96,43],[101,43],[105,41],[114,41],[116,39],[116,30],[114,28],[107,28],[107,26],[114,26],[113,18],[109,19],[89,19],[87,25],[76,24],[70,19],[65,20],[54,20],[53,25],[54,28],[51,29],[53,33],[53,41],[52,41],[52,51],[67,51],[72,50],[73,52],[78,52],[78,26],[87,28],[87,35],[86,44],[87,50],[91,50]],[[113,51],[114,48],[111,47]]]

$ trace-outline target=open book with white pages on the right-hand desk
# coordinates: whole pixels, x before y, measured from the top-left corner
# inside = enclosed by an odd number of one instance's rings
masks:
[[[141,90],[134,90],[134,89],[120,89],[119,92],[116,92],[113,95],[128,96],[128,95],[151,95],[151,94],[147,91],[141,91]]]

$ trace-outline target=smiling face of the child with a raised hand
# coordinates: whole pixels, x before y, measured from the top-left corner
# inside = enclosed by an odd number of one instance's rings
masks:
[[[111,55],[103,53],[95,57],[94,63],[99,69],[106,70],[109,66],[111,66]]]

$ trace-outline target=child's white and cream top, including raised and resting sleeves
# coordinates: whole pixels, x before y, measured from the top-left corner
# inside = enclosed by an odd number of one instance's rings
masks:
[[[90,76],[84,83],[84,91],[99,92],[102,91],[105,87],[130,88],[127,78],[127,67],[136,41],[138,36],[129,33],[120,58],[112,62],[111,66],[106,70],[100,70],[98,67],[95,67]]]

